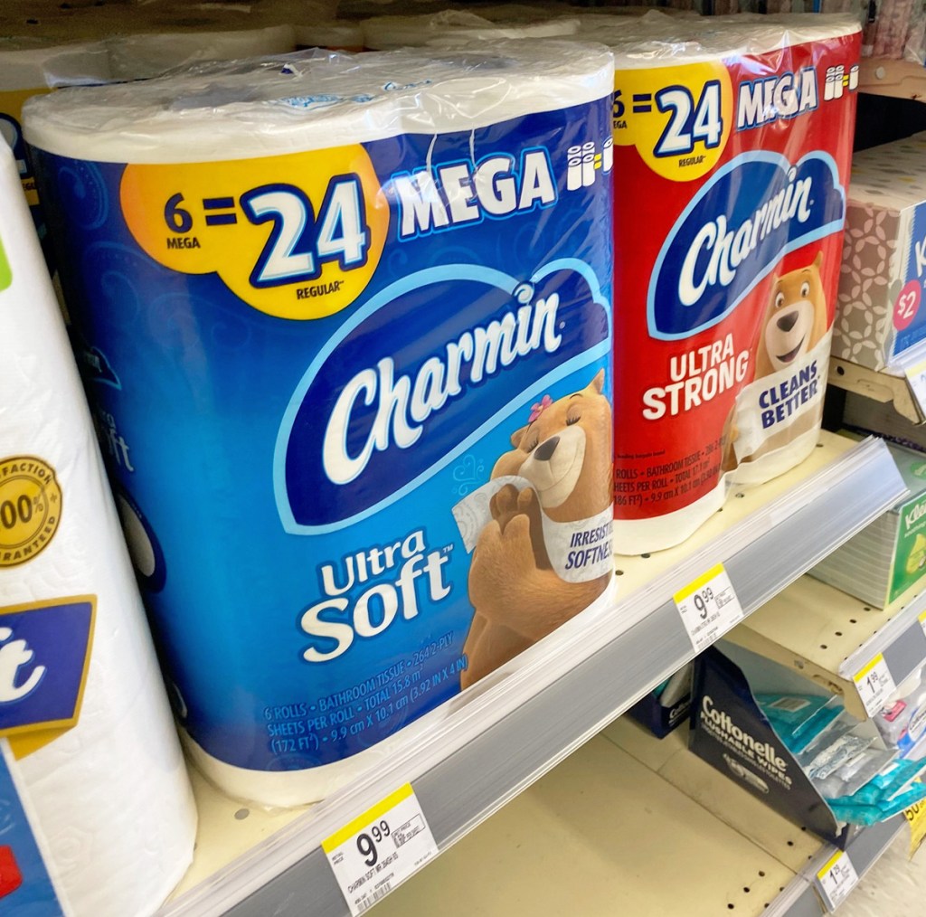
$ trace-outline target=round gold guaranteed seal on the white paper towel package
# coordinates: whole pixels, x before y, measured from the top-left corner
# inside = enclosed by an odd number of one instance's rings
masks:
[[[0,461],[0,567],[40,554],[60,519],[61,488],[51,465],[35,456]]]

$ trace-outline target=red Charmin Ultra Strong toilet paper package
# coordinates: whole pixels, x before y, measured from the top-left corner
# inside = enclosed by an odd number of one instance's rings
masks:
[[[842,16],[632,28],[614,102],[624,554],[678,544],[732,485],[816,446],[860,46]]]

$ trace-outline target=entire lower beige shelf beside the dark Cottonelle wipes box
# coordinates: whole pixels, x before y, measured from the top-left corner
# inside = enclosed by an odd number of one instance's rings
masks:
[[[820,917],[832,847],[686,747],[615,722],[378,906],[378,917]],[[858,835],[865,873],[898,823]]]

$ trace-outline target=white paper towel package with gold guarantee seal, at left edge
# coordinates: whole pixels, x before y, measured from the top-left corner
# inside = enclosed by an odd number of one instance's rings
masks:
[[[0,205],[0,911],[57,912],[56,897],[78,917],[150,914],[192,859],[193,798],[80,377],[3,147]]]

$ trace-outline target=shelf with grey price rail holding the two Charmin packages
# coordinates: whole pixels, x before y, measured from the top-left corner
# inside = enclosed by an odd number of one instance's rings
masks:
[[[682,586],[722,561],[751,612],[903,492],[880,441],[824,433],[800,468],[732,497],[684,546],[619,558],[619,596],[607,607],[419,721],[429,728],[318,806],[280,823],[253,810],[235,820],[242,807],[200,785],[196,860],[162,914],[341,917],[322,838],[411,782],[443,851],[693,658],[671,599]]]

